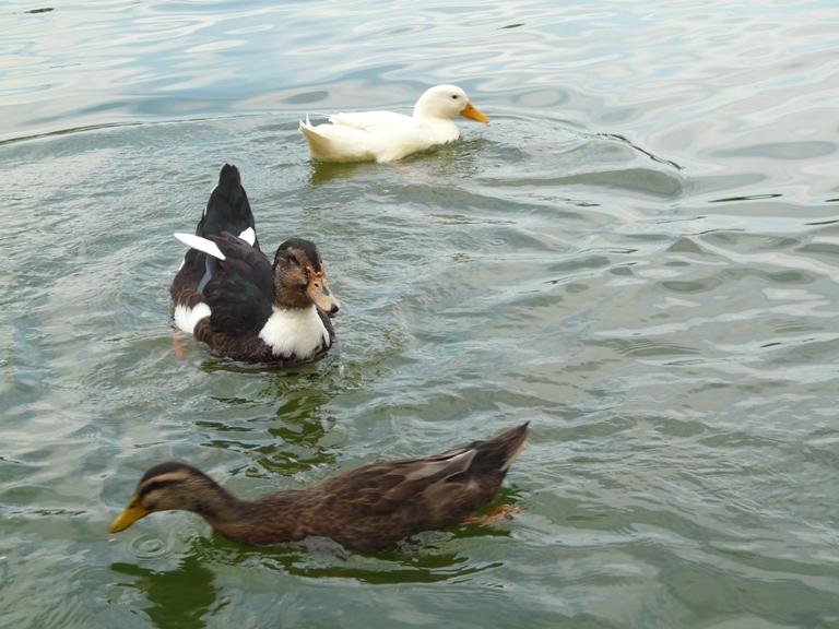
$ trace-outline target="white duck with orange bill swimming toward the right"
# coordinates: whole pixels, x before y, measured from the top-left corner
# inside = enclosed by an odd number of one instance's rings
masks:
[[[429,87],[414,105],[413,116],[393,111],[334,114],[314,126],[300,120],[309,152],[320,162],[392,162],[460,138],[451,118],[465,116],[488,122],[457,85]]]

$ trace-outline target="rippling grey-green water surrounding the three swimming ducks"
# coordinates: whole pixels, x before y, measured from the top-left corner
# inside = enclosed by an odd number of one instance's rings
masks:
[[[49,10],[47,10],[49,9]],[[834,0],[0,8],[0,625],[839,627]],[[297,119],[465,87],[404,166]],[[320,244],[340,348],[172,351],[218,167]],[[532,420],[522,513],[398,553],[107,525],[179,458],[253,496]]]

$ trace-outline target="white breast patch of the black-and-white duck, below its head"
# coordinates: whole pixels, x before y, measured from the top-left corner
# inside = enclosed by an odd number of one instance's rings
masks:
[[[271,347],[274,356],[294,354],[306,358],[321,344],[329,345],[329,332],[315,306],[294,310],[274,306],[273,309],[273,313],[259,331],[259,337]]]

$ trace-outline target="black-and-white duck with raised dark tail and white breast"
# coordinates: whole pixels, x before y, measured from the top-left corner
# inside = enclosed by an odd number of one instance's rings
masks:
[[[331,294],[317,246],[280,245],[273,263],[259,249],[239,171],[225,164],[169,293],[175,324],[228,358],[284,366],[306,363],[334,343]]]

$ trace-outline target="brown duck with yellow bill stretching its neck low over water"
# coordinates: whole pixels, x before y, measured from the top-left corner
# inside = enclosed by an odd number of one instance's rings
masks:
[[[330,537],[376,551],[422,531],[463,523],[493,499],[524,444],[528,424],[442,454],[386,461],[309,487],[243,500],[186,463],[149,470],[111,533],[155,511],[201,515],[216,533],[249,545]]]

